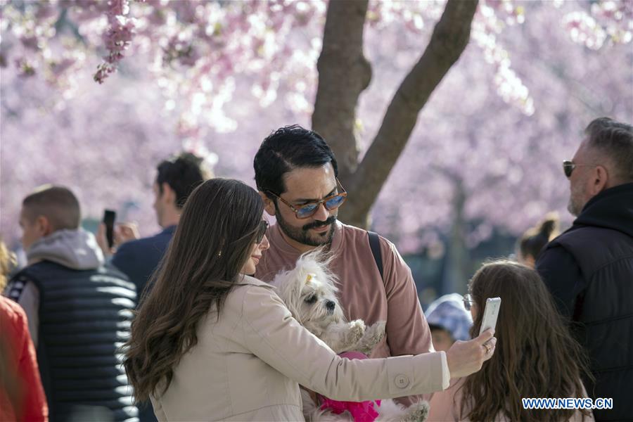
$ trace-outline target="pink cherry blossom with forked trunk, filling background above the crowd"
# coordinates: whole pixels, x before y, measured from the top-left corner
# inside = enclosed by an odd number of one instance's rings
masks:
[[[341,4],[354,4],[353,25],[331,18]],[[547,210],[562,214],[559,162],[584,125],[633,115],[627,2],[465,11],[455,1],[67,0],[13,1],[0,13],[1,224],[11,237],[25,190],[46,181],[75,187],[85,215],[137,210],[151,232],[159,160],[207,148],[217,174],[252,181],[263,137],[312,117],[350,191],[341,219],[362,224],[375,203],[373,227],[403,252],[448,238],[460,262],[493,230],[518,234]],[[346,23],[352,61],[336,56]],[[436,57],[449,42],[459,48]],[[342,76],[369,63],[371,79]]]

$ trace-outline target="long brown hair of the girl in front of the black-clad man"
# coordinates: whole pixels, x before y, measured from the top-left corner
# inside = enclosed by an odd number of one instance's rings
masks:
[[[523,409],[522,397],[584,397],[588,360],[558,313],[537,271],[513,261],[484,264],[469,290],[478,309],[478,335],[487,298],[501,298],[497,347],[480,371],[466,378],[461,415],[471,421],[567,421],[574,409]],[[583,410],[583,414],[589,412]],[[463,418],[463,416],[461,416]]]

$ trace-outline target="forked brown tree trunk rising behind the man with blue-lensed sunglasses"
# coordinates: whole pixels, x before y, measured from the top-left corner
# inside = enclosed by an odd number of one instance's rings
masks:
[[[407,145],[418,113],[468,44],[477,4],[478,0],[447,1],[426,50],[392,98],[376,138],[358,165],[355,111],[371,78],[362,53],[367,1],[330,2],[317,63],[319,89],[312,127],[332,147],[343,186],[350,191],[340,210],[340,219],[347,224],[367,226],[371,205]]]

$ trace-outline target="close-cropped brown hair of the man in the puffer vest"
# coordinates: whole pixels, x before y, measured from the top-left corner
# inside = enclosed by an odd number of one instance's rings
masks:
[[[49,219],[53,231],[76,230],[82,219],[77,197],[63,186],[44,185],[37,188],[24,198],[22,207],[31,222],[39,216]]]

